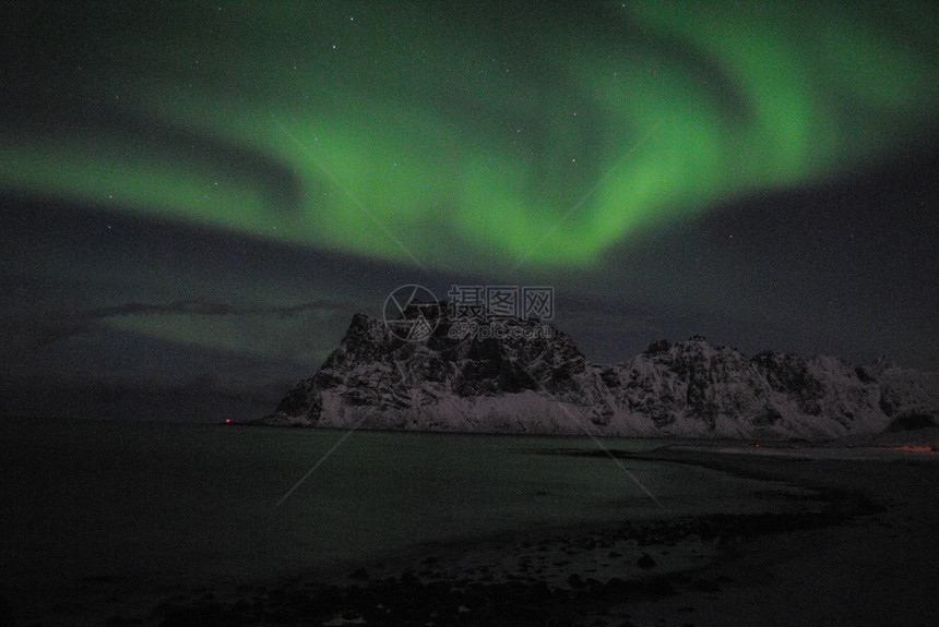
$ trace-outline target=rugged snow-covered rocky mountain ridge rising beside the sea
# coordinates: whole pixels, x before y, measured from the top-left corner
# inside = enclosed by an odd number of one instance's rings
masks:
[[[436,328],[419,340],[356,314],[320,370],[255,423],[828,439],[939,422],[939,373],[883,360],[853,366],[825,355],[749,358],[692,337],[602,365],[534,319],[453,319],[419,303],[405,319],[423,306],[420,330]],[[477,333],[464,337],[471,329]]]

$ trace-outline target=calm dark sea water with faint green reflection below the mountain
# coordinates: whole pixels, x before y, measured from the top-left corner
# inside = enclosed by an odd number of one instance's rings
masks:
[[[14,596],[87,581],[253,581],[432,541],[726,510],[765,487],[545,455],[596,449],[586,437],[22,419],[0,420],[0,592]]]

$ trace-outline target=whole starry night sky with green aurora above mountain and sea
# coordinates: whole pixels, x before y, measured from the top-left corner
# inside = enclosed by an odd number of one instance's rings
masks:
[[[0,412],[255,418],[355,312],[551,286],[589,359],[703,334],[939,369],[932,2],[0,9]]]

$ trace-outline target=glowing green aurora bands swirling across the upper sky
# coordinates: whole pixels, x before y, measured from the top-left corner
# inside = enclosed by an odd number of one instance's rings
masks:
[[[3,11],[0,188],[431,267],[587,265],[939,104],[927,2]]]

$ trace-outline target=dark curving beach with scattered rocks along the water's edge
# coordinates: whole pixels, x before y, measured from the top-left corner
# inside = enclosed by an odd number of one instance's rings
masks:
[[[617,457],[798,486],[773,511],[533,530],[345,574],[201,589],[181,625],[934,625],[939,455],[928,448],[670,446]],[[584,455],[583,451],[559,455]],[[112,617],[111,625],[141,624]]]

